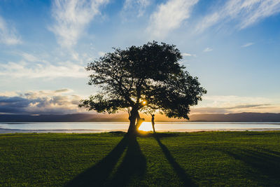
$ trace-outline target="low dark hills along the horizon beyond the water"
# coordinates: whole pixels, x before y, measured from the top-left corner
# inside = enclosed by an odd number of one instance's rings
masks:
[[[116,115],[75,113],[66,115],[0,115],[0,122],[98,122],[128,121],[127,114]],[[146,121],[151,116],[144,115]],[[165,116],[156,116],[156,121],[182,121]],[[186,120],[183,120],[186,121]],[[280,113],[229,113],[191,115],[190,121],[223,121],[223,122],[280,122]]]

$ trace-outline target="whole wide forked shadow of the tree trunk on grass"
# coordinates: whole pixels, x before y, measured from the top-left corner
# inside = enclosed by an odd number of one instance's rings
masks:
[[[111,177],[114,167],[127,148],[125,157],[116,173]],[[146,172],[146,158],[141,153],[136,136],[125,134],[125,137],[93,167],[78,174],[65,186],[125,186],[132,179],[140,179]],[[140,180],[139,180],[140,181]]]

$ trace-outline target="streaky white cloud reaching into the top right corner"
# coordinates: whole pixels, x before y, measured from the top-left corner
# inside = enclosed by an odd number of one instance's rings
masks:
[[[222,1],[224,2],[224,1]],[[245,29],[260,20],[280,12],[279,0],[230,0],[221,6],[215,8],[198,23],[195,31],[203,32],[205,29],[233,21],[237,29]]]

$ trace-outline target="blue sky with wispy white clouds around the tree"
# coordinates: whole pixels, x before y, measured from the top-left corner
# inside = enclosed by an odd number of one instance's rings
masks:
[[[208,92],[191,113],[280,113],[280,0],[0,0],[0,113],[80,113],[87,63],[176,45]]]

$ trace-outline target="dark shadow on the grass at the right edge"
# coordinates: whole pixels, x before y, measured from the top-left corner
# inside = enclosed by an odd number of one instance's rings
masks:
[[[251,176],[261,186],[279,186],[280,181],[280,153],[269,149],[260,151],[242,150],[227,151],[237,160],[241,160],[253,170]]]

